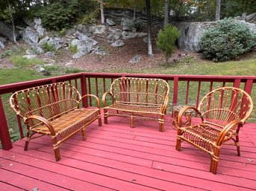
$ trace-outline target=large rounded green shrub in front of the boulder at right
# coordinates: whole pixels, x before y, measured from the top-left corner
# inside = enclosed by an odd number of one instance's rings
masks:
[[[199,45],[203,58],[221,62],[251,51],[256,34],[246,24],[225,18],[205,30]]]

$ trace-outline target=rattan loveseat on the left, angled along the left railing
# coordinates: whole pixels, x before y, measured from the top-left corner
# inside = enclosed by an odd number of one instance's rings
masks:
[[[79,103],[85,97],[94,97],[97,107],[79,109]],[[63,141],[77,132],[82,132],[83,140],[86,140],[85,130],[96,119],[102,126],[99,98],[93,94],[81,97],[75,87],[64,82],[16,91],[10,97],[10,106],[27,126],[25,150],[28,150],[29,141],[36,138],[33,135],[49,135],[56,161],[60,160]]]

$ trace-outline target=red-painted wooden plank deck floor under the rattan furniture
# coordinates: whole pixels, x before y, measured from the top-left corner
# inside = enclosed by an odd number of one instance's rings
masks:
[[[49,137],[25,141],[0,150],[0,190],[256,190],[256,124],[240,132],[241,156],[224,145],[217,174],[209,172],[210,157],[187,143],[175,150],[172,118],[165,132],[158,123],[109,117],[94,122],[87,140],[75,135],[60,146],[61,160],[54,161]]]

